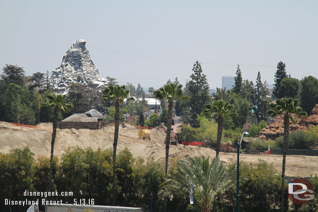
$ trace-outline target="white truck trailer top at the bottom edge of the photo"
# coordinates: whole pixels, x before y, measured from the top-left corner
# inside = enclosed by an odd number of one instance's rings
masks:
[[[45,212],[83,212],[83,210],[85,209],[92,209],[94,212],[144,212],[143,208],[115,207],[103,205],[45,205]]]

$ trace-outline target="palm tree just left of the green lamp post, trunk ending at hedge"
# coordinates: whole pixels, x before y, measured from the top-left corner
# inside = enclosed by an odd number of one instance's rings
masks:
[[[231,110],[234,106],[230,102],[224,102],[223,100],[218,100],[212,102],[212,104],[207,104],[204,106],[203,113],[210,117],[218,120],[218,134],[217,134],[217,150],[216,156],[220,152],[221,138],[223,133],[223,119],[225,116],[234,117],[237,113],[232,113]]]

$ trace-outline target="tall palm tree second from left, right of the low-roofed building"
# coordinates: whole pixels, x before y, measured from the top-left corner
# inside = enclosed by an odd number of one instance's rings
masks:
[[[114,144],[113,144],[113,197],[112,205],[115,206],[115,186],[116,186],[116,151],[117,151],[117,141],[118,141],[118,130],[120,121],[120,104],[127,99],[127,101],[135,101],[134,98],[128,97],[129,90],[125,89],[125,85],[109,85],[104,91],[105,94],[100,97],[105,101],[115,102],[115,133],[114,133]]]

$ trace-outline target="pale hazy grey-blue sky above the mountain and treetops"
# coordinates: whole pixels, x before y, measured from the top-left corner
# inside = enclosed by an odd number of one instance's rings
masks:
[[[52,72],[77,39],[102,77],[185,85],[196,60],[211,89],[222,76],[274,83],[277,63],[318,77],[318,1],[0,1],[0,66]]]

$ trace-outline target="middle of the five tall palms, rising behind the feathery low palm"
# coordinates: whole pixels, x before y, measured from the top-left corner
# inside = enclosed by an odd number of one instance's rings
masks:
[[[172,121],[172,109],[174,99],[180,99],[182,101],[190,101],[190,97],[184,96],[182,91],[182,85],[176,85],[174,83],[166,84],[160,87],[154,92],[154,96],[159,101],[163,102],[165,99],[168,100],[168,121],[167,121],[167,136],[166,136],[166,166],[165,174],[168,173],[168,157],[169,157],[169,144],[170,144],[170,132],[171,132],[171,121]],[[166,210],[166,198],[164,199],[164,208]]]

